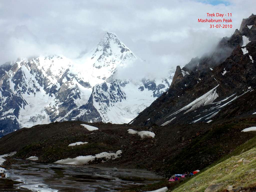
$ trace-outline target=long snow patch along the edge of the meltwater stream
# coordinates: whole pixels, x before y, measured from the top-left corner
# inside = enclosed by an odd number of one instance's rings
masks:
[[[122,150],[118,150],[116,153],[107,153],[107,152],[102,152],[99,154],[96,154],[94,156],[92,155],[87,155],[87,156],[78,156],[75,158],[67,158],[67,159],[61,159],[59,161],[56,161],[54,163],[60,163],[60,164],[72,164],[72,165],[86,165],[88,164],[89,161],[93,161],[95,158],[106,158],[106,161],[109,159],[115,159],[120,157],[122,153]],[[104,161],[102,161],[104,162]]]

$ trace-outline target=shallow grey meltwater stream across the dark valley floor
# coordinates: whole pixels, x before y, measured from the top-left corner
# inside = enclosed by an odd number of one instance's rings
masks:
[[[7,176],[31,191],[118,191],[158,182],[161,177],[135,169],[29,163],[13,165]]]

